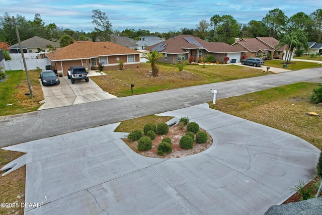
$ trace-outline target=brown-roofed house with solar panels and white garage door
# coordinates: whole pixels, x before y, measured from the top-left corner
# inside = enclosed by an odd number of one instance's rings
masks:
[[[158,61],[172,64],[187,60],[190,56],[198,62],[199,57],[208,54],[213,55],[219,62],[223,62],[225,57],[240,62],[241,56],[246,52],[227,43],[207,42],[191,35],[178,35],[144,49],[148,51],[156,49],[157,52],[165,54],[165,57],[159,58]]]

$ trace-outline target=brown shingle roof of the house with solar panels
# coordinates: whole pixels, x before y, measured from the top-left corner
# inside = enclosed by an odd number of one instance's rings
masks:
[[[191,42],[188,42],[187,38],[192,38],[193,40],[197,41],[201,46],[199,44],[193,44]],[[145,48],[145,50],[153,50],[159,44],[167,44],[166,46],[164,46],[165,49],[160,52],[169,54],[188,53],[187,49],[206,49],[208,52],[213,53],[245,52],[244,50],[231,46],[227,43],[207,42],[205,40],[191,35],[178,35],[168,40],[148,46]]]

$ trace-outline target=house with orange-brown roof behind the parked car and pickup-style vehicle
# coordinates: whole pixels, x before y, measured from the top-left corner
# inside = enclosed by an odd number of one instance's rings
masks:
[[[53,68],[63,71],[66,76],[72,65],[82,65],[90,70],[101,63],[103,69],[114,69],[119,68],[119,60],[122,59],[125,68],[137,67],[140,65],[140,53],[112,42],[76,41],[45,55]]]

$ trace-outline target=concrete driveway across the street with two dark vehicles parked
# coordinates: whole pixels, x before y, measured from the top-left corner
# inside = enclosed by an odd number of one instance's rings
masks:
[[[38,110],[116,98],[91,79],[89,82],[76,81],[75,84],[71,84],[67,77],[59,77],[59,80],[60,84],[54,86],[44,87],[40,83],[45,99],[40,102],[44,104]]]

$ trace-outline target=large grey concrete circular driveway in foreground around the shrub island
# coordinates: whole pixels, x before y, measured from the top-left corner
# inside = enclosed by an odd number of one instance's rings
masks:
[[[207,104],[158,115],[188,116],[212,146],[147,158],[113,132],[116,123],[4,148],[27,153],[4,168],[27,164],[25,202],[40,206],[25,214],[263,214],[316,174],[319,150],[294,135]]]

